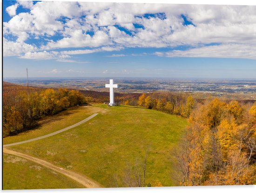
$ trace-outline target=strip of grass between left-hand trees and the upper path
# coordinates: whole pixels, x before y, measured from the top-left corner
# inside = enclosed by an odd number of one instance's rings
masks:
[[[92,106],[71,107],[66,111],[58,113],[57,115],[49,116],[43,120],[40,120],[39,126],[33,130],[3,138],[3,144],[29,140],[48,133],[53,133],[67,126],[74,125],[75,123],[84,120],[91,114],[100,110],[100,108]]]

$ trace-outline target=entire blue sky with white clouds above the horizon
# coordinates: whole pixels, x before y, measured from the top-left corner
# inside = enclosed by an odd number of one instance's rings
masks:
[[[4,0],[3,21],[4,77],[256,77],[256,6]]]

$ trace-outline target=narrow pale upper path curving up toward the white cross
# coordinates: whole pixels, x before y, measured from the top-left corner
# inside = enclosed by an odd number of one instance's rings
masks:
[[[63,131],[67,131],[68,129],[71,129],[71,128],[75,127],[75,126],[79,126],[79,125],[81,125],[82,123],[85,123],[86,121],[88,121],[88,120],[94,118],[97,114],[98,114],[98,113],[94,113],[94,114],[92,114],[91,116],[89,116],[88,118],[86,118],[86,119],[84,119],[84,120],[81,120],[80,122],[78,122],[78,123],[76,123],[76,124],[74,124],[74,125],[72,125],[72,126],[68,126],[68,127],[64,128],[64,129],[61,129],[61,130],[59,130],[59,131],[56,131],[56,132],[54,132],[54,133],[49,133],[49,134],[47,134],[47,135],[43,135],[43,136],[41,136],[41,137],[37,137],[37,138],[31,139],[31,140],[25,140],[25,141],[20,141],[20,142],[16,142],[16,143],[10,143],[10,144],[6,144],[6,145],[3,145],[3,146],[4,146],[4,147],[7,147],[7,146],[15,146],[15,145],[19,145],[19,144],[22,144],[22,143],[27,143],[27,142],[31,142],[31,141],[35,141],[35,140],[40,140],[40,139],[43,139],[43,138],[46,138],[46,137],[49,137],[49,136],[52,136],[52,135],[61,133],[61,132],[63,132]]]

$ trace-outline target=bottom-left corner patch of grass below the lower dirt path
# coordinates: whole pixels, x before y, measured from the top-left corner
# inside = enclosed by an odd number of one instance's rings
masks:
[[[76,181],[23,158],[3,154],[3,189],[84,188]]]

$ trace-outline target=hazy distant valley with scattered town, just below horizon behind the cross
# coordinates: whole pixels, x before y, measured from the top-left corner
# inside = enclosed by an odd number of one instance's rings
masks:
[[[107,91],[109,78],[29,78],[32,87],[66,87],[89,91]],[[256,99],[256,80],[168,79],[168,78],[114,78],[119,85],[117,93],[151,93],[172,91],[232,99]],[[26,78],[4,78],[4,81],[27,85]]]

